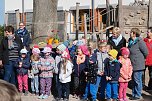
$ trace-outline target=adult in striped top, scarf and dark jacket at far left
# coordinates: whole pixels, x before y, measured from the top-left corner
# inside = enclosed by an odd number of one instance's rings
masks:
[[[0,45],[0,65],[4,65],[4,80],[16,84],[14,63],[23,47],[22,41],[18,36],[14,35],[12,26],[5,28],[5,35]]]

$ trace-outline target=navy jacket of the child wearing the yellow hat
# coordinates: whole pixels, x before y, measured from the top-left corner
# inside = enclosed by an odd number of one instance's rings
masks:
[[[104,75],[111,77],[111,83],[117,83],[120,76],[121,64],[118,60],[110,61],[107,60],[105,64]]]

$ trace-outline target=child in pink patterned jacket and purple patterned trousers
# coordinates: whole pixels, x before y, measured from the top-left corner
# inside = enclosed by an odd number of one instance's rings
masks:
[[[50,95],[52,78],[53,78],[53,69],[55,67],[55,61],[50,53],[52,49],[50,47],[44,47],[42,51],[44,57],[40,58],[41,67],[40,70],[40,93],[39,99],[47,99]]]

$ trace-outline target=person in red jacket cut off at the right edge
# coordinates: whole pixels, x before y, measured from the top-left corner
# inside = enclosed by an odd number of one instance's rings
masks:
[[[148,48],[148,56],[146,58],[146,66],[149,70],[149,83],[147,90],[152,90],[152,28],[148,30],[147,38],[144,39]]]

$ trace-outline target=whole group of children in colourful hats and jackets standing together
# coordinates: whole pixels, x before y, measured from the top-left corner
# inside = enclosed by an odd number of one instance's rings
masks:
[[[98,49],[94,42],[87,44],[85,40],[74,41],[72,48],[68,46],[68,41],[57,46],[55,58],[51,55],[50,45],[44,47],[42,52],[35,45],[31,59],[27,50],[22,49],[15,64],[19,91],[22,93],[24,88],[25,95],[28,94],[29,77],[32,93],[40,95],[39,99],[46,99],[54,78],[55,101],[68,101],[71,85],[73,97],[82,97],[82,101],[87,101],[89,95],[92,101],[97,101],[98,92],[101,101],[105,98],[107,101],[127,101],[126,90],[132,75],[128,48],[123,47],[121,56],[118,56],[118,52],[106,42],[99,43]]]

